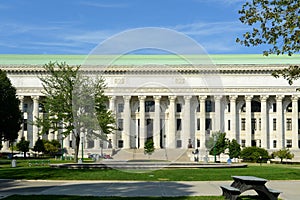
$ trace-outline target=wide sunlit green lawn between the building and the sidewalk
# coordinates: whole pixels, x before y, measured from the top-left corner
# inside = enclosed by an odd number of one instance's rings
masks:
[[[53,161],[60,162],[60,161]],[[115,169],[54,169],[48,166],[29,167],[18,160],[17,167],[0,162],[0,179],[32,180],[136,180],[136,181],[221,181],[233,175],[252,175],[268,180],[300,180],[300,165],[250,164],[247,168],[160,169],[145,173],[128,173]],[[132,171],[134,172],[134,171]]]

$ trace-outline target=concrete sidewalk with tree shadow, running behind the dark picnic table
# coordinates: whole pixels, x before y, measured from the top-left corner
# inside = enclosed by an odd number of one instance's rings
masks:
[[[220,196],[220,185],[232,181],[50,181],[0,180],[0,198],[12,194],[80,196]],[[267,187],[283,192],[279,198],[297,200],[300,181],[269,181]],[[243,194],[255,194],[250,191]]]

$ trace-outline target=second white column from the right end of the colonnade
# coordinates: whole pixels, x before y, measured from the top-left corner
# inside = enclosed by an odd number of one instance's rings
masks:
[[[283,137],[283,125],[284,125],[284,121],[283,121],[283,110],[282,110],[282,99],[284,98],[284,95],[277,95],[276,96],[276,105],[277,105],[277,112],[276,112],[276,116],[277,116],[277,123],[276,123],[276,130],[277,130],[277,134],[276,134],[276,138],[277,138],[277,149],[282,149],[283,148],[283,141],[282,141],[282,137]]]

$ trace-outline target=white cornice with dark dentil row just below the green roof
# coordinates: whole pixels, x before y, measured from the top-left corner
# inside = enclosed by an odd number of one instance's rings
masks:
[[[87,74],[270,74],[288,67],[285,64],[218,64],[218,65],[92,65],[81,66]],[[46,74],[42,65],[0,65],[9,74]]]

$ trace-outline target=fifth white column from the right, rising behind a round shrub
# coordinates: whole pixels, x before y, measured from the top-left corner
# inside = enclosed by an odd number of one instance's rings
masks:
[[[236,139],[236,141],[240,144],[240,136],[237,135],[237,128],[236,128],[236,99],[237,95],[229,96],[230,99],[230,114],[231,114],[231,120],[230,120],[230,132],[229,139]]]

